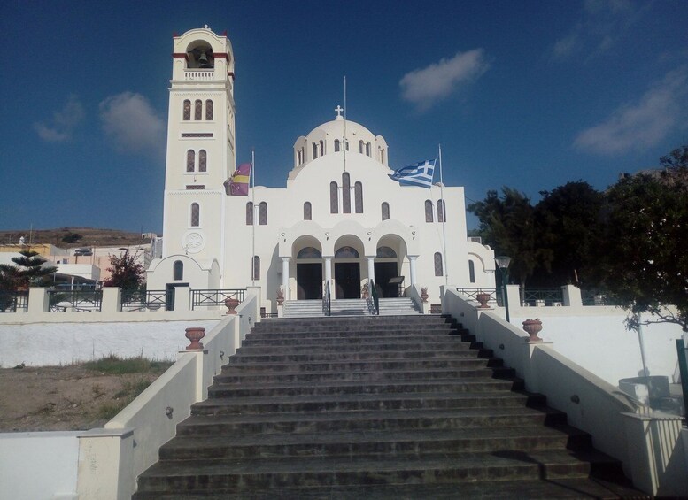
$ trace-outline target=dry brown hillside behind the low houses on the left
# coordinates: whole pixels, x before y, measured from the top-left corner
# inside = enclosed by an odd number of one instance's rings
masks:
[[[34,229],[33,231],[28,229],[0,231],[0,243],[19,243],[20,236],[24,236],[25,242],[28,243],[29,235],[32,243],[52,243],[64,249],[90,246],[127,246],[150,241],[150,237],[142,238],[141,233],[131,233],[118,229],[58,227],[55,229]],[[81,235],[81,239],[76,239],[74,242],[63,242],[62,238],[66,235]]]

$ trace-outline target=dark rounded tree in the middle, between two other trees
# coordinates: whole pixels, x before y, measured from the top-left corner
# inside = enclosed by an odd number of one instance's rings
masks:
[[[540,244],[551,251],[547,273],[539,281],[549,286],[595,283],[596,254],[602,241],[604,195],[584,181],[567,182],[552,191],[540,191],[535,206]]]

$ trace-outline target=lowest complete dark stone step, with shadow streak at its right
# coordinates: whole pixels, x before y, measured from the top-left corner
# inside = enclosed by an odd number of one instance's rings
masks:
[[[590,460],[605,459],[589,453]],[[586,478],[590,462],[579,452],[540,450],[528,454],[459,453],[429,457],[313,457],[158,462],[139,477],[139,491],[252,492],[273,488],[350,485],[414,485],[455,481],[535,481]],[[279,489],[278,489],[279,488]]]

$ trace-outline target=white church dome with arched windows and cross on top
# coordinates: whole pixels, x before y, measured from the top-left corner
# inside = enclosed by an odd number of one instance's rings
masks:
[[[387,166],[387,142],[382,135],[374,135],[355,121],[344,120],[343,111],[336,107],[336,118],[313,128],[308,135],[294,142],[294,168],[322,156],[340,153],[358,153],[374,158]]]

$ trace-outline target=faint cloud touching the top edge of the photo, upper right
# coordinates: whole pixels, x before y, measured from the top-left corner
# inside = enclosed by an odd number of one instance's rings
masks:
[[[630,0],[585,0],[581,19],[554,43],[554,58],[568,58],[578,52],[596,56],[610,50],[646,8]]]

